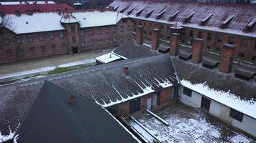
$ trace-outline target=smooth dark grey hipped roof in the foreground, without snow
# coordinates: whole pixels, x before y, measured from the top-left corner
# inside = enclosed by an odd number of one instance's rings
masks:
[[[105,109],[45,81],[16,134],[17,142],[137,142]]]

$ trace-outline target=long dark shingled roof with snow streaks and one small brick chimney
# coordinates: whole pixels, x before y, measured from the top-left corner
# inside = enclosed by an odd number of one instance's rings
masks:
[[[128,76],[124,74],[124,66],[129,67]],[[145,87],[151,87],[155,92],[160,92],[163,88],[158,82],[168,80],[173,86],[178,84],[170,56],[161,54],[116,61],[0,87],[0,95],[1,89],[9,89],[4,91],[9,95],[0,104],[0,130],[3,134],[9,134],[9,126],[12,131],[16,129],[45,80],[99,104],[109,104],[128,97],[136,98],[137,94],[143,93],[142,89]]]

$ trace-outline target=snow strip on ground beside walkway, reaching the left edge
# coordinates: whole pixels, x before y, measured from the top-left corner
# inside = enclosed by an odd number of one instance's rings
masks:
[[[28,74],[35,74],[35,73],[39,73],[39,72],[51,71],[55,68],[56,68],[55,66],[46,66],[46,67],[42,67],[42,68],[38,68],[38,69],[14,72],[11,74],[2,74],[2,75],[0,75],[0,79],[7,79],[7,78],[11,78],[11,77],[19,77],[19,76],[24,76],[24,75],[28,75]]]

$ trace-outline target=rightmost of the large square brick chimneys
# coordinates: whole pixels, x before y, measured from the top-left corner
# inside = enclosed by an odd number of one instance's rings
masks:
[[[228,73],[232,70],[234,49],[236,46],[232,44],[224,44],[221,51],[221,61],[219,64],[219,71]]]

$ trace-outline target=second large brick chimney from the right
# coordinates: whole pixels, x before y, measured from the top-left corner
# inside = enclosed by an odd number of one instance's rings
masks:
[[[200,38],[196,38],[193,41],[193,46],[192,46],[192,61],[193,63],[200,63],[202,56],[203,56],[203,45],[204,45],[204,40]]]

